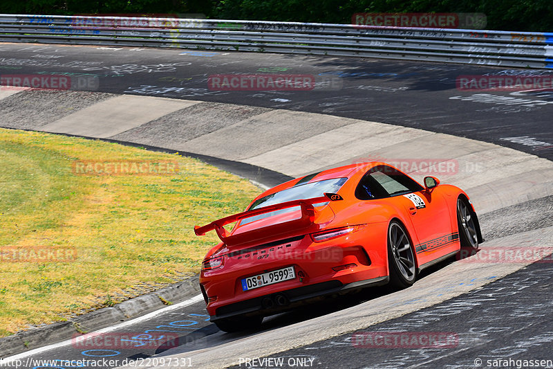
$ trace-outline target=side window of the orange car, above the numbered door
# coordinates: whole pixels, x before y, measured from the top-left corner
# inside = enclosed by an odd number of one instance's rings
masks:
[[[420,190],[422,186],[402,172],[388,165],[378,165],[366,172],[359,181],[355,197],[361,200],[384,199]]]

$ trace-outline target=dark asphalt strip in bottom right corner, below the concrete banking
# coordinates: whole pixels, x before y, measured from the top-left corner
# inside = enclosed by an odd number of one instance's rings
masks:
[[[274,368],[274,363],[282,362],[320,369],[520,368],[524,360],[543,360],[551,367],[552,286],[551,265],[531,264],[469,294],[368,330],[281,352],[265,361],[248,363],[246,359],[253,358],[243,358],[241,366],[232,368]],[[432,345],[432,334],[437,341],[439,334],[444,338]]]

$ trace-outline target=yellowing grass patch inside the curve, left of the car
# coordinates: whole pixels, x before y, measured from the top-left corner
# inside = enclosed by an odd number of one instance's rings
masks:
[[[176,161],[165,175],[76,175],[75,161]],[[199,271],[218,238],[193,228],[243,211],[259,188],[178,154],[0,129],[0,336],[111,306]]]

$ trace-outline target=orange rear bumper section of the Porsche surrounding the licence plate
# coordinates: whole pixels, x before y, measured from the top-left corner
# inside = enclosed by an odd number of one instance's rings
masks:
[[[214,318],[239,314],[270,315],[287,307],[262,309],[261,301],[279,294],[288,305],[313,296],[335,294],[352,283],[368,285],[388,276],[387,224],[371,224],[344,237],[313,242],[310,235],[247,249],[223,251],[224,265],[200,274],[207,312]],[[243,280],[261,273],[294,267],[296,278],[261,288],[244,289]],[[349,286],[349,287],[348,287]],[[265,305],[270,305],[266,303]]]

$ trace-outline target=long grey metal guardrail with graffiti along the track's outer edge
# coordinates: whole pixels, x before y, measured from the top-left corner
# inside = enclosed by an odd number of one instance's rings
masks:
[[[261,51],[553,68],[553,33],[496,30],[0,15],[0,42]]]

